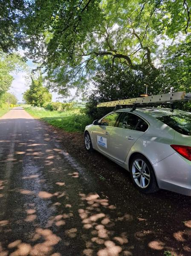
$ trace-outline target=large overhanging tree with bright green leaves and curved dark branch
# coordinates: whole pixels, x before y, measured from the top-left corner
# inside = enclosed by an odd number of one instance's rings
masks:
[[[49,86],[64,93],[83,88],[107,61],[156,78],[158,41],[191,31],[187,0],[40,0],[33,8],[30,53],[43,61]]]

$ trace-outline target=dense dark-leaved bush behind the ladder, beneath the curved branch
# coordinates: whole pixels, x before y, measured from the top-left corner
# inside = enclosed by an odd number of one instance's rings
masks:
[[[150,77],[148,80],[142,72],[131,70],[125,64],[118,63],[113,67],[112,64],[106,63],[94,77],[94,89],[88,95],[86,113],[98,119],[113,111],[113,108],[96,108],[98,102],[139,97],[146,91],[145,84],[149,84],[148,93],[166,93],[165,83],[161,84],[160,79],[154,80]]]

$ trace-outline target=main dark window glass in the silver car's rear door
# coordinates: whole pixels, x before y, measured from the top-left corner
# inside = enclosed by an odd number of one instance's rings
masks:
[[[139,116],[136,116],[132,113],[123,112],[122,115],[119,118],[119,122],[117,124],[117,127],[124,128],[124,129],[135,130],[136,125],[137,125],[138,122],[139,122]]]

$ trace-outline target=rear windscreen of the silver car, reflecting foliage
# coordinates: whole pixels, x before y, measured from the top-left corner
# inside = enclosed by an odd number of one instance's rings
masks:
[[[180,134],[191,136],[191,114],[177,114],[157,117]]]

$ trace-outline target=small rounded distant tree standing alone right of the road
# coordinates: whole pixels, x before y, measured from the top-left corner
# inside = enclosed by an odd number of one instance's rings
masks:
[[[23,93],[23,99],[26,103],[34,106],[42,106],[45,102],[51,102],[52,95],[49,93],[48,89],[43,87],[42,75],[38,79],[32,79],[30,88]]]

